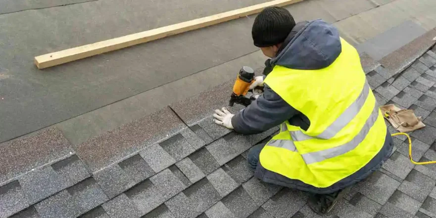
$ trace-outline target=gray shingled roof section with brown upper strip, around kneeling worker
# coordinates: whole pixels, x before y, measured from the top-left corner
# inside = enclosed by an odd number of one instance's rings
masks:
[[[423,46],[420,40],[416,46]],[[395,103],[424,118],[427,127],[411,133],[413,158],[421,161],[436,160],[435,51],[398,72],[361,55],[379,104]],[[78,146],[54,128],[3,145],[0,218],[319,218],[306,193],[263,183],[247,166],[247,150],[278,128],[242,136],[213,124],[213,109],[228,103],[232,85]],[[394,141],[383,168],[325,217],[436,218],[436,165],[411,164],[405,138]]]

